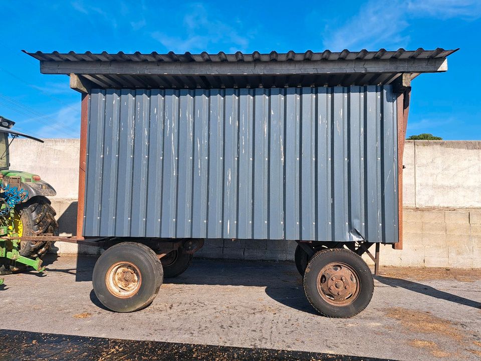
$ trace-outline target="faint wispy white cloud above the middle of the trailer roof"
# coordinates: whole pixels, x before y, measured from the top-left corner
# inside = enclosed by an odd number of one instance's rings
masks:
[[[160,42],[169,51],[184,53],[186,51],[199,52],[212,51],[213,47],[229,45],[231,51],[245,51],[249,46],[249,36],[240,35],[235,28],[227,22],[216,17],[215,12],[207,10],[202,4],[188,6],[188,12],[182,19],[183,34],[169,36],[163,32],[153,32],[151,36]],[[230,22],[239,21],[229,18]],[[221,50],[221,49],[216,49]]]

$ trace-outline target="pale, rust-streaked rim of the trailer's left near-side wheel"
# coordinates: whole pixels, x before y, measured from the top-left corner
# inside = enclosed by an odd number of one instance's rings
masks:
[[[142,284],[139,268],[131,262],[117,262],[110,266],[105,276],[107,289],[114,296],[129,298],[135,295]]]

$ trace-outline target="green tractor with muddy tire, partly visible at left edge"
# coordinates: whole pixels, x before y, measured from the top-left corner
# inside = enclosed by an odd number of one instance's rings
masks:
[[[42,143],[43,140],[13,130],[14,124],[0,116],[0,275],[20,272],[29,266],[42,270],[41,258],[51,242],[22,237],[58,236],[56,213],[47,198],[57,194],[54,188],[37,174],[9,169],[9,146],[15,138],[22,136]]]

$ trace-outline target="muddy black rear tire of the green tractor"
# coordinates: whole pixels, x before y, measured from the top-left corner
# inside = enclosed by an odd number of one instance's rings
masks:
[[[16,213],[20,216],[15,220],[15,228],[19,236],[35,236],[40,233],[51,233],[59,235],[59,224],[55,220],[56,212],[50,205],[48,198],[36,196],[25,203],[15,207]],[[30,242],[21,241],[20,254],[24,257],[35,259],[42,258],[50,249],[51,242]],[[12,264],[7,260],[4,266],[0,267],[0,274],[21,272],[28,266],[23,264]]]

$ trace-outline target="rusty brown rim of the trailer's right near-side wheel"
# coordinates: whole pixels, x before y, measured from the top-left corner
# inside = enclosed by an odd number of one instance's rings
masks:
[[[317,276],[319,294],[334,306],[347,306],[354,302],[360,288],[359,275],[345,263],[329,263]]]

